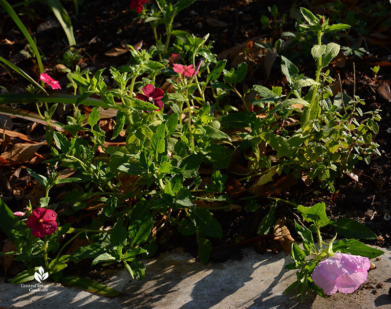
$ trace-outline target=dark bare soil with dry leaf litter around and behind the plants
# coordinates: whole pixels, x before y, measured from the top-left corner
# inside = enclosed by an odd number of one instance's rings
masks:
[[[301,6],[308,7],[307,2],[309,1],[299,2]],[[311,3],[313,2],[319,3],[322,1],[312,1]],[[345,1],[342,2],[345,3]],[[118,67],[128,63],[129,53],[118,57],[105,55],[105,52],[113,47],[124,48],[128,44],[134,45],[140,41],[143,42],[143,48],[148,49],[152,46],[154,40],[151,28],[148,24],[135,19],[136,14],[128,9],[128,4],[128,0],[85,1],[85,4],[80,7],[79,15],[75,16],[72,3],[64,2],[65,8],[71,16],[77,47],[81,51],[82,59],[79,61],[79,65],[82,69],[88,67],[90,71],[95,71],[103,67]],[[272,28],[262,29],[260,17],[266,15],[271,18],[267,7],[273,4],[278,6],[280,12],[277,26],[274,27],[274,23],[272,23]],[[204,36],[209,33],[209,40],[214,41],[214,53],[220,54],[255,37],[274,42],[280,38],[282,32],[295,32],[295,20],[289,17],[290,14],[293,14],[290,5],[290,1],[198,0],[178,14],[174,29],[185,30],[194,33],[196,36]],[[369,5],[374,5],[373,1],[360,1],[359,4],[353,5],[351,9],[357,13]],[[325,13],[326,11],[323,6],[313,7],[313,10],[319,13]],[[348,11],[349,8],[346,10]],[[62,92],[66,93],[65,84],[67,80],[64,74],[59,73],[55,67],[57,59],[62,59],[63,53],[67,50],[67,41],[61,26],[51,12],[41,4],[30,5],[24,13],[29,14],[22,15],[22,21],[37,38],[38,45],[45,55],[44,67],[48,69],[47,72],[52,77],[60,79],[60,83],[64,85]],[[282,21],[282,14],[286,14],[286,22],[281,28],[279,24]],[[30,16],[33,16],[34,20]],[[22,56],[19,52],[22,49],[26,50],[26,41],[19,29],[9,17],[3,18],[1,13],[0,21],[2,21],[0,22],[0,56],[22,67],[30,75],[38,76],[36,63],[30,58]],[[334,22],[334,20],[331,22]],[[370,26],[369,34],[380,32],[376,22],[368,21],[368,25]],[[164,33],[165,30],[161,28],[158,31]],[[390,29],[383,29],[381,34],[390,38]],[[356,36],[359,41],[360,36],[354,30],[351,31],[350,36]],[[370,54],[368,56],[363,59],[348,56],[346,65],[342,67],[330,65],[329,69],[331,70],[330,76],[334,78],[338,77],[338,73],[340,74],[344,90],[352,96],[354,87],[353,63],[355,64],[355,94],[365,100],[366,105],[363,109],[382,110],[380,130],[374,137],[374,141],[380,144],[382,156],[373,156],[369,165],[360,163],[356,166],[356,174],[359,176],[358,181],[354,181],[346,175],[338,179],[334,194],[327,190],[319,190],[316,183],[306,186],[303,182],[300,182],[290,187],[289,190],[282,192],[279,197],[304,206],[324,202],[327,214],[332,220],[343,217],[355,219],[378,235],[377,240],[364,241],[365,243],[380,247],[391,247],[391,221],[386,220],[387,215],[391,214],[391,139],[388,132],[391,127],[391,103],[376,92],[379,85],[391,81],[391,70],[388,66],[391,64],[391,44],[389,39],[376,41],[369,40],[369,37],[365,41],[367,45],[364,45],[364,43],[362,45],[369,50]],[[346,45],[347,42],[343,41],[341,44]],[[289,46],[286,50],[289,51]],[[315,72],[312,58],[305,59],[304,51],[300,52],[303,52],[300,55],[302,59],[301,69],[306,73],[306,76],[312,76]],[[230,58],[230,61],[232,58]],[[257,57],[252,61],[253,71],[245,81],[247,85],[261,83],[265,86],[281,85],[286,87],[278,60],[274,63],[269,79],[266,79],[262,61]],[[383,61],[383,64],[376,82],[373,82],[373,73],[370,68],[374,66],[374,63],[380,61]],[[299,58],[296,59],[296,62],[299,62]],[[15,81],[12,81],[9,75],[0,67],[0,85],[7,89],[13,89],[13,92],[20,92],[27,83],[17,77]],[[61,118],[61,115],[58,115],[58,117]],[[27,122],[22,122],[20,119],[14,120],[13,129],[23,132],[23,130],[28,130],[26,124]],[[44,134],[42,128],[36,129],[36,132],[38,137],[42,137]],[[42,149],[43,151],[40,151],[40,153],[48,152],[47,148]],[[41,162],[43,160],[44,158]],[[39,160],[35,164],[37,163],[39,163]],[[41,168],[38,165],[36,166],[38,169]],[[34,190],[31,178],[25,173],[24,168],[22,172],[21,170],[18,172],[19,167],[2,167],[0,175],[1,198],[15,211],[22,209],[27,198],[31,196],[31,191]],[[22,195],[15,192],[17,187],[22,186],[27,188],[26,192],[23,192]],[[51,193],[55,198],[60,198],[63,195],[62,190],[64,188],[55,189]],[[213,240],[215,249],[212,252],[212,260],[220,261],[230,256],[235,257],[230,252],[237,252],[236,248],[238,246],[233,245],[256,236],[257,227],[270,205],[269,201],[266,200],[260,200],[259,202],[261,207],[254,213],[247,213],[244,210],[217,211],[215,213],[223,227],[224,236],[221,240]],[[281,216],[286,216],[287,227],[293,237],[298,239],[298,236],[294,233],[293,225],[293,220],[297,220],[297,214],[295,215],[290,206],[282,204],[278,208],[278,213]],[[5,235],[0,234],[0,239],[5,239]],[[196,255],[195,239],[180,237],[172,229],[163,230],[160,235],[158,234],[160,250],[177,246],[178,241],[182,242],[185,247],[192,248],[191,251]],[[259,239],[254,240],[251,245],[259,251],[262,251],[263,247],[273,249],[272,243],[269,241],[260,243]]]

